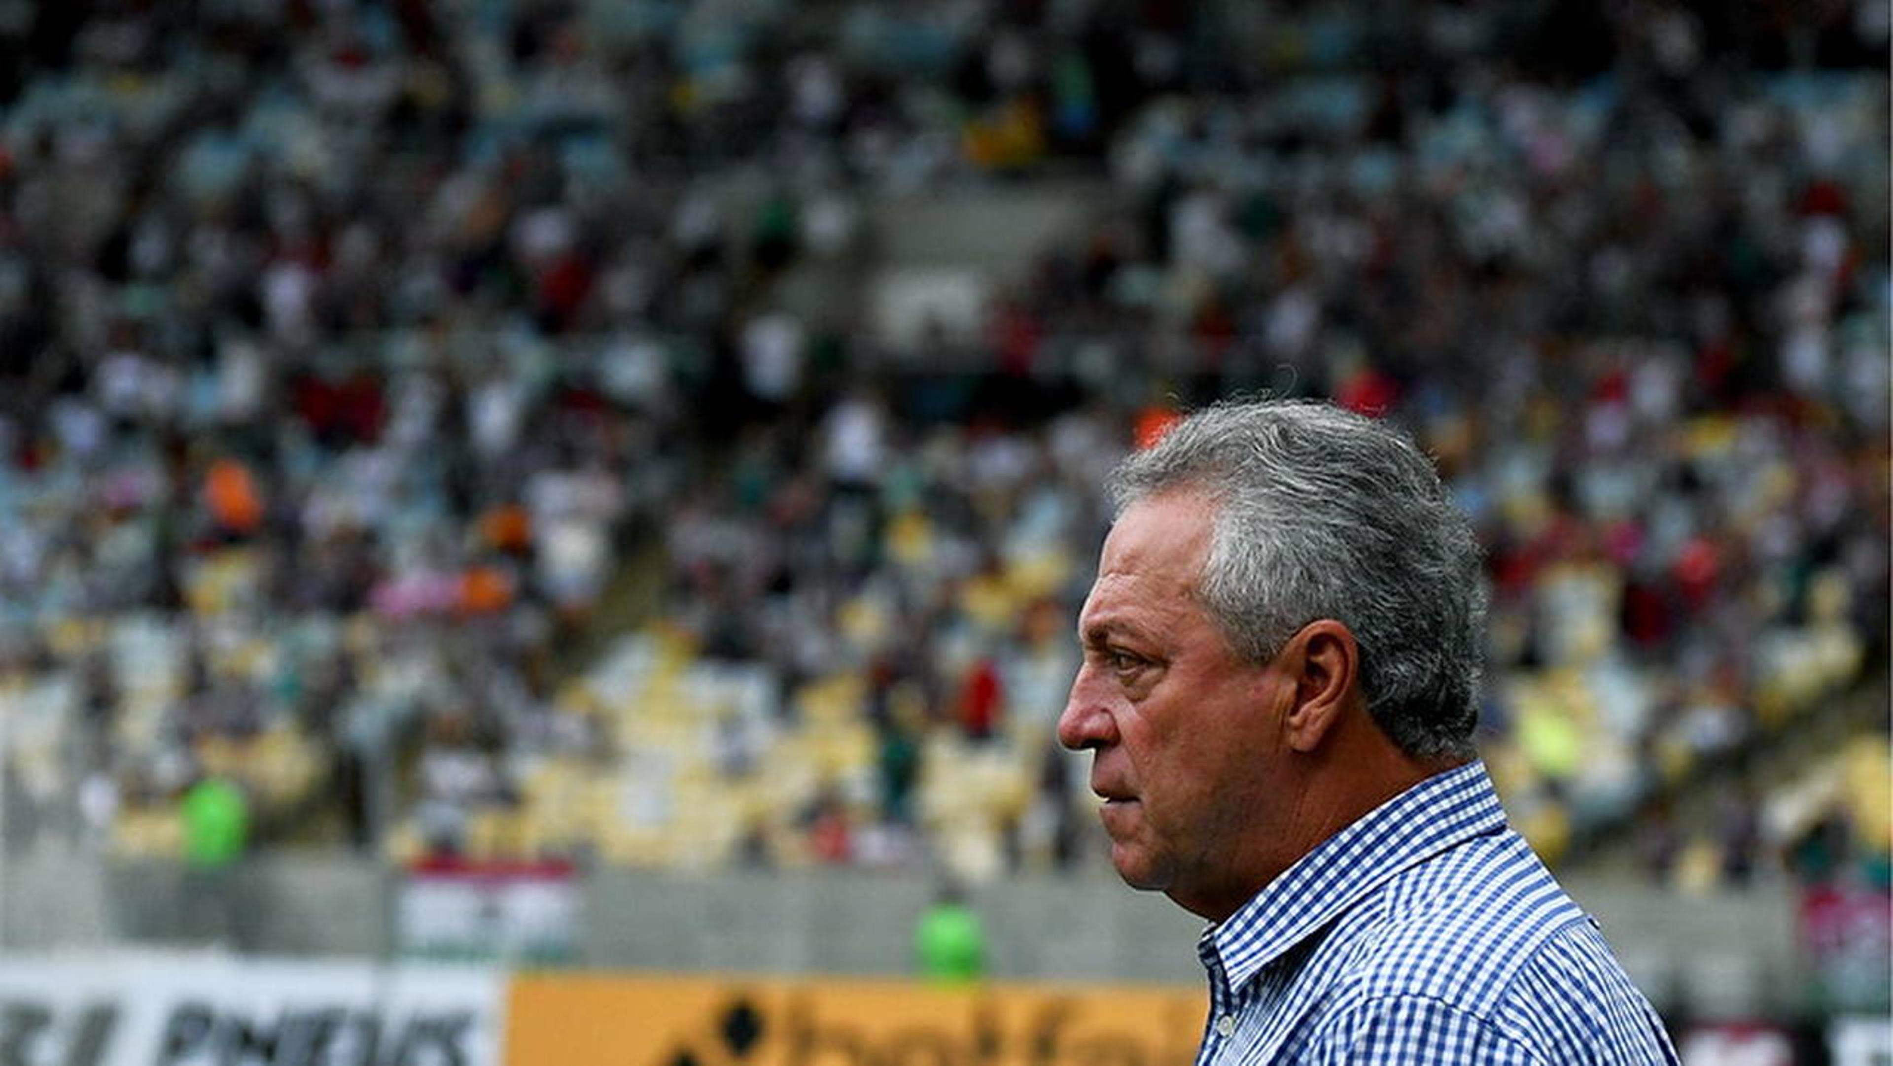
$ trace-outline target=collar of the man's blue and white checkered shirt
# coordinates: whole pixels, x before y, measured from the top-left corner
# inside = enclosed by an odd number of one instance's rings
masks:
[[[1503,826],[1505,810],[1482,761],[1433,774],[1321,841],[1234,915],[1204,930],[1198,951],[1240,990],[1395,873]]]

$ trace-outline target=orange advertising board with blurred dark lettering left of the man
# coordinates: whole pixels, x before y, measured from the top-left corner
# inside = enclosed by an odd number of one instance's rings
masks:
[[[521,973],[505,1066],[1189,1066],[1206,994]]]

